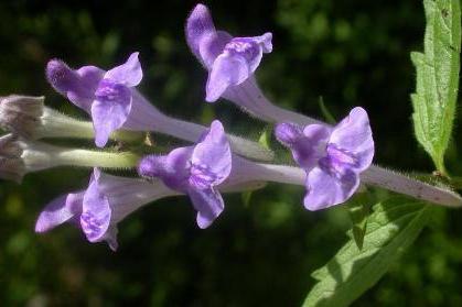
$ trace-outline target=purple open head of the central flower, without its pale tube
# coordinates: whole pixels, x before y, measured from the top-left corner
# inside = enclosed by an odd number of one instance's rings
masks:
[[[190,196],[197,210],[197,224],[207,228],[223,211],[224,201],[216,186],[232,171],[232,152],[223,125],[212,122],[196,145],[179,147],[168,155],[141,160],[138,173],[159,177],[170,188]]]

